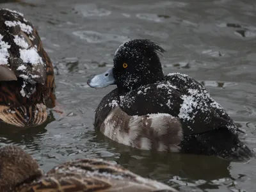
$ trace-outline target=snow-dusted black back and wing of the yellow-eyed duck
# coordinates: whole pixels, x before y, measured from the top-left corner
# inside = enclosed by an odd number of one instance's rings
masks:
[[[128,115],[167,113],[177,117],[184,135],[220,128],[237,131],[232,118],[210,97],[204,86],[183,74],[169,74],[162,82],[141,86],[124,95],[117,96],[117,90],[113,93],[115,97],[111,97],[115,99],[102,99],[104,102],[100,103],[96,114],[103,113],[99,111],[103,108],[106,108],[103,111],[111,110],[112,103],[116,102]]]

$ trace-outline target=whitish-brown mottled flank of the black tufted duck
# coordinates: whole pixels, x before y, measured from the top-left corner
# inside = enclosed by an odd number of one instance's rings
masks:
[[[182,127],[179,118],[158,113],[130,116],[115,107],[100,126],[111,140],[143,150],[179,152]]]

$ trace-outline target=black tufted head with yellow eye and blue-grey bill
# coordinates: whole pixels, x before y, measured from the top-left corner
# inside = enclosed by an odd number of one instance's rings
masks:
[[[88,85],[104,88],[116,84],[118,90],[130,91],[141,85],[156,83],[164,78],[157,55],[163,52],[163,48],[147,39],[125,42],[115,52],[113,68],[89,79]]]

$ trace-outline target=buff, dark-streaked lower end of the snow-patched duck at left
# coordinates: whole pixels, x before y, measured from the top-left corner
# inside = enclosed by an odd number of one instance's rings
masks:
[[[6,124],[17,127],[34,127],[47,119],[46,106],[43,103],[29,106],[0,106],[0,119]]]

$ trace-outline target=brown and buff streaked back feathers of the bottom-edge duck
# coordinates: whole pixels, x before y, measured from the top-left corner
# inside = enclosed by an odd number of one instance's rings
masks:
[[[50,170],[42,179],[20,186],[17,191],[159,191],[176,190],[145,179],[102,159],[78,159]]]

